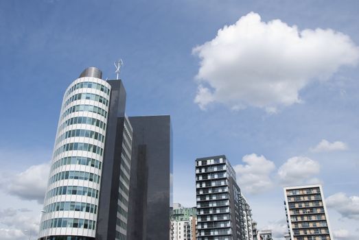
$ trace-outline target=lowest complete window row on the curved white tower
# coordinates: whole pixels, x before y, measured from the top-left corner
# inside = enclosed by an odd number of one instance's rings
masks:
[[[40,230],[47,228],[84,228],[95,230],[96,221],[89,219],[60,217],[43,221],[40,225]]]

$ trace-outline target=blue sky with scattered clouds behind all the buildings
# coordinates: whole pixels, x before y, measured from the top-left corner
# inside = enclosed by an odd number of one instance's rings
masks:
[[[89,66],[115,77],[119,58],[127,115],[172,117],[174,202],[196,204],[195,158],[225,154],[259,228],[280,237],[282,187],[321,182],[336,238],[355,239],[358,14],[358,1],[0,1],[0,239],[36,232],[65,88]],[[293,25],[300,52],[278,40]],[[241,38],[261,26],[272,35]]]

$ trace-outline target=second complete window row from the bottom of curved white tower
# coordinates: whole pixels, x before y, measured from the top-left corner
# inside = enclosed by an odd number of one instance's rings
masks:
[[[55,211],[80,211],[86,213],[97,213],[97,206],[87,202],[55,202],[44,208],[46,213]]]

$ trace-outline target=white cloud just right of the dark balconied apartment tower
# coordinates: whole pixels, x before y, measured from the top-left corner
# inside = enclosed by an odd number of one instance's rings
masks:
[[[260,193],[273,186],[270,173],[275,169],[275,164],[264,156],[249,154],[242,158],[245,165],[235,165],[237,182],[246,193]]]

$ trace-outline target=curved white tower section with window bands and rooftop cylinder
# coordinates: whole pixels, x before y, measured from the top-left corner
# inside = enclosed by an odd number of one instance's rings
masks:
[[[65,92],[40,239],[95,239],[111,93],[101,77],[85,69]]]

